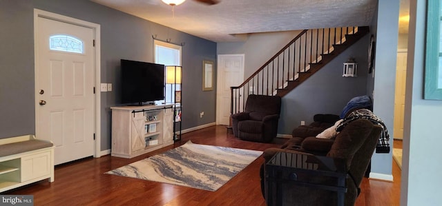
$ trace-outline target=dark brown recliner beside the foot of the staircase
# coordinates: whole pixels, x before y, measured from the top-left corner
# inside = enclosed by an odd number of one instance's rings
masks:
[[[244,112],[232,114],[233,135],[246,141],[269,143],[278,133],[280,96],[250,94]]]

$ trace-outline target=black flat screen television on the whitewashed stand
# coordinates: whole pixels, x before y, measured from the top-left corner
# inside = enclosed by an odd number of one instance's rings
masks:
[[[164,99],[164,65],[121,60],[122,103],[143,105]]]

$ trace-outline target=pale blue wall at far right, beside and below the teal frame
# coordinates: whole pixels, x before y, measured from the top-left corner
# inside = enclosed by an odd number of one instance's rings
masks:
[[[426,1],[410,3],[401,205],[441,205],[442,101],[423,99]]]

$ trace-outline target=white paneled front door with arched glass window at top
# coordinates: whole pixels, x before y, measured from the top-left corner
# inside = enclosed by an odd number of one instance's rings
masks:
[[[55,145],[55,165],[94,154],[93,29],[37,18],[36,136]]]

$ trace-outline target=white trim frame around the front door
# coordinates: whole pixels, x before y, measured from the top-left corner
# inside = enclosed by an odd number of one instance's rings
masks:
[[[88,21],[83,21],[83,20],[79,20],[79,19],[75,19],[72,17],[66,17],[63,16],[61,14],[55,14],[52,12],[46,12],[44,10],[39,10],[39,9],[34,9],[34,41],[37,41],[37,25],[38,25],[38,18],[46,18],[46,19],[52,19],[55,21],[61,21],[63,23],[70,23],[73,25],[79,25],[85,28],[90,28],[93,30],[93,35],[94,35],[94,39],[95,39],[95,52],[94,52],[94,56],[93,56],[93,65],[94,65],[94,76],[95,76],[95,82],[94,87],[95,87],[95,97],[94,97],[94,134],[95,134],[95,140],[94,140],[94,157],[95,158],[99,158],[100,156],[102,156],[102,152],[101,152],[101,94],[100,94],[100,83],[101,83],[101,78],[100,78],[100,62],[101,62],[101,54],[100,54],[100,25],[97,23],[90,23]],[[38,63],[38,58],[37,58],[37,46],[34,46],[34,61],[35,61],[35,67],[34,67],[34,74],[35,74],[35,84],[34,84],[34,90],[35,93],[37,94],[37,90],[38,88],[36,87],[36,84],[38,82],[38,77],[37,77],[37,66],[39,65]],[[37,97],[37,96],[35,96]],[[37,102],[37,98],[35,98],[35,125],[37,125],[37,121],[38,121],[38,102]],[[37,126],[35,128],[35,130],[37,130]],[[38,136],[37,136],[38,138]]]

